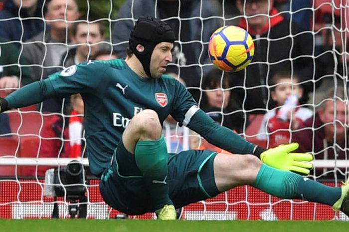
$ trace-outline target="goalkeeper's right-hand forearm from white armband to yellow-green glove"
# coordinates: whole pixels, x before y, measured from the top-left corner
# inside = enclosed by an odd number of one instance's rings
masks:
[[[206,113],[196,106],[191,107],[183,121],[193,131],[203,136],[209,143],[238,154],[253,154],[263,163],[281,170],[309,174],[313,165],[309,161],[313,156],[309,153],[292,153],[298,148],[297,143],[280,145],[276,148],[264,149],[254,145],[232,130],[218,125]]]

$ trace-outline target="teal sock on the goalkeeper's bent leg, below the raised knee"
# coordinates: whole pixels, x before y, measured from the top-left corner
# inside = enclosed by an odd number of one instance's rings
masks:
[[[173,205],[167,184],[168,153],[164,136],[159,140],[139,141],[136,145],[135,159],[152,197],[154,209]]]

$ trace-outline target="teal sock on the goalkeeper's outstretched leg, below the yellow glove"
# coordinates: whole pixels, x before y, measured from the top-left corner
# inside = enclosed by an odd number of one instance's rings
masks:
[[[333,206],[341,197],[341,188],[328,187],[292,172],[263,164],[253,186],[283,199],[303,199]]]

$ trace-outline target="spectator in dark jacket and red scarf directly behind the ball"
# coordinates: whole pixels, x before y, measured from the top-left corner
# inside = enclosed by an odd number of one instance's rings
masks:
[[[313,86],[310,81],[313,58],[304,57],[312,55],[313,36],[279,14],[273,4],[274,0],[236,0],[237,8],[243,14],[239,26],[247,29],[254,39],[255,54],[246,69],[231,76],[233,85],[239,86],[234,90],[238,104],[251,114],[265,113],[268,107],[273,108],[273,105],[268,106],[268,80],[280,66],[301,73],[299,81],[304,89],[301,103],[308,100]]]

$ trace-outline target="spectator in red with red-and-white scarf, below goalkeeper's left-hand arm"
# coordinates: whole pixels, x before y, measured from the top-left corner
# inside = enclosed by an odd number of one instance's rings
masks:
[[[82,155],[83,151],[83,117],[84,102],[80,94],[71,96],[71,111],[69,117],[53,115],[41,132],[40,158],[76,158]],[[44,176],[49,167],[39,167],[37,175]],[[31,169],[27,173],[35,175]]]

